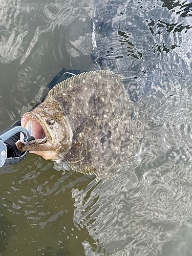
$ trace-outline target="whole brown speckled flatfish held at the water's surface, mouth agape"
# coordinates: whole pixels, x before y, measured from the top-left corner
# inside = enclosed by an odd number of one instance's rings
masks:
[[[120,75],[81,73],[56,84],[44,102],[23,115],[22,126],[34,140],[20,139],[16,146],[83,174],[118,172],[136,140],[128,121],[131,105]]]

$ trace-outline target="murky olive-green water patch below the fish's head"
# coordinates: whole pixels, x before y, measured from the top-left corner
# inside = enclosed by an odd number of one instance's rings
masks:
[[[29,156],[4,169],[1,214],[10,230],[3,255],[84,255],[81,243],[89,240],[93,245],[86,228],[73,223],[72,198],[72,189],[84,190],[93,177],[52,167],[50,161]]]

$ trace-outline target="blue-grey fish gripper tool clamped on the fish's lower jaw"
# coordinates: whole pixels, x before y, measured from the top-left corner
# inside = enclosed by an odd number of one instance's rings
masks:
[[[18,153],[15,145],[15,142],[19,139],[20,133],[24,134],[24,141],[34,140],[34,137],[30,136],[27,129],[22,126],[11,126],[0,133],[0,167],[19,163],[27,157],[29,152]],[[10,143],[7,143],[9,139],[12,140]],[[10,152],[12,153],[10,154]],[[15,152],[17,152],[17,154],[15,154]]]

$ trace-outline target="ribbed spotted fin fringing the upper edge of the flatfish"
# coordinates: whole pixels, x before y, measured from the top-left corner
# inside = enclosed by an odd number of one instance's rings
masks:
[[[81,73],[77,76],[70,77],[60,83],[57,83],[51,91],[49,91],[48,96],[54,97],[57,94],[63,93],[65,90],[73,88],[78,84],[88,81],[91,78],[119,78],[119,75],[116,75],[112,71],[108,70],[99,70]]]

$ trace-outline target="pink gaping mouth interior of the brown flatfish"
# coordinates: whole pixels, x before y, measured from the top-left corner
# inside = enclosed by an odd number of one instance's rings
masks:
[[[44,143],[47,141],[46,133],[36,118],[33,118],[30,115],[24,115],[22,117],[22,126],[28,130],[30,136],[33,136],[35,140],[39,140],[39,142],[42,141]],[[24,135],[23,133],[20,133],[20,140],[23,139]]]

